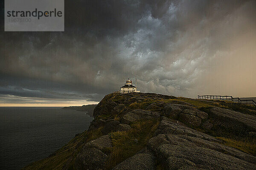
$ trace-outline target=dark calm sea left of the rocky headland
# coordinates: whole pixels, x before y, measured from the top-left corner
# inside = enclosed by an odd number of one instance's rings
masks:
[[[49,156],[92,120],[60,107],[0,107],[0,170],[20,170]]]

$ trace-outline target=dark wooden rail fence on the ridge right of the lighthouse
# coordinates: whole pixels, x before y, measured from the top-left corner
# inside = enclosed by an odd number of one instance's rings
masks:
[[[233,97],[233,96],[217,96],[217,95],[204,95],[200,96],[198,95],[198,99],[208,99],[208,100],[226,100],[226,101],[232,101],[232,102],[238,102],[242,104],[247,105],[254,105],[256,106],[256,102],[253,99],[240,99],[239,97]]]

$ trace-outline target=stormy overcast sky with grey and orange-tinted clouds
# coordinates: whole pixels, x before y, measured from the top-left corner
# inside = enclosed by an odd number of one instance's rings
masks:
[[[255,0],[65,0],[64,32],[4,32],[0,2],[0,106],[97,103],[136,75],[141,92],[256,96]]]

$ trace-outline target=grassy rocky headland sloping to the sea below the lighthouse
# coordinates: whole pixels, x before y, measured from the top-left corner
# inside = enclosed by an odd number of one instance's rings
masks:
[[[160,94],[109,94],[84,133],[24,169],[256,169],[255,108]]]

